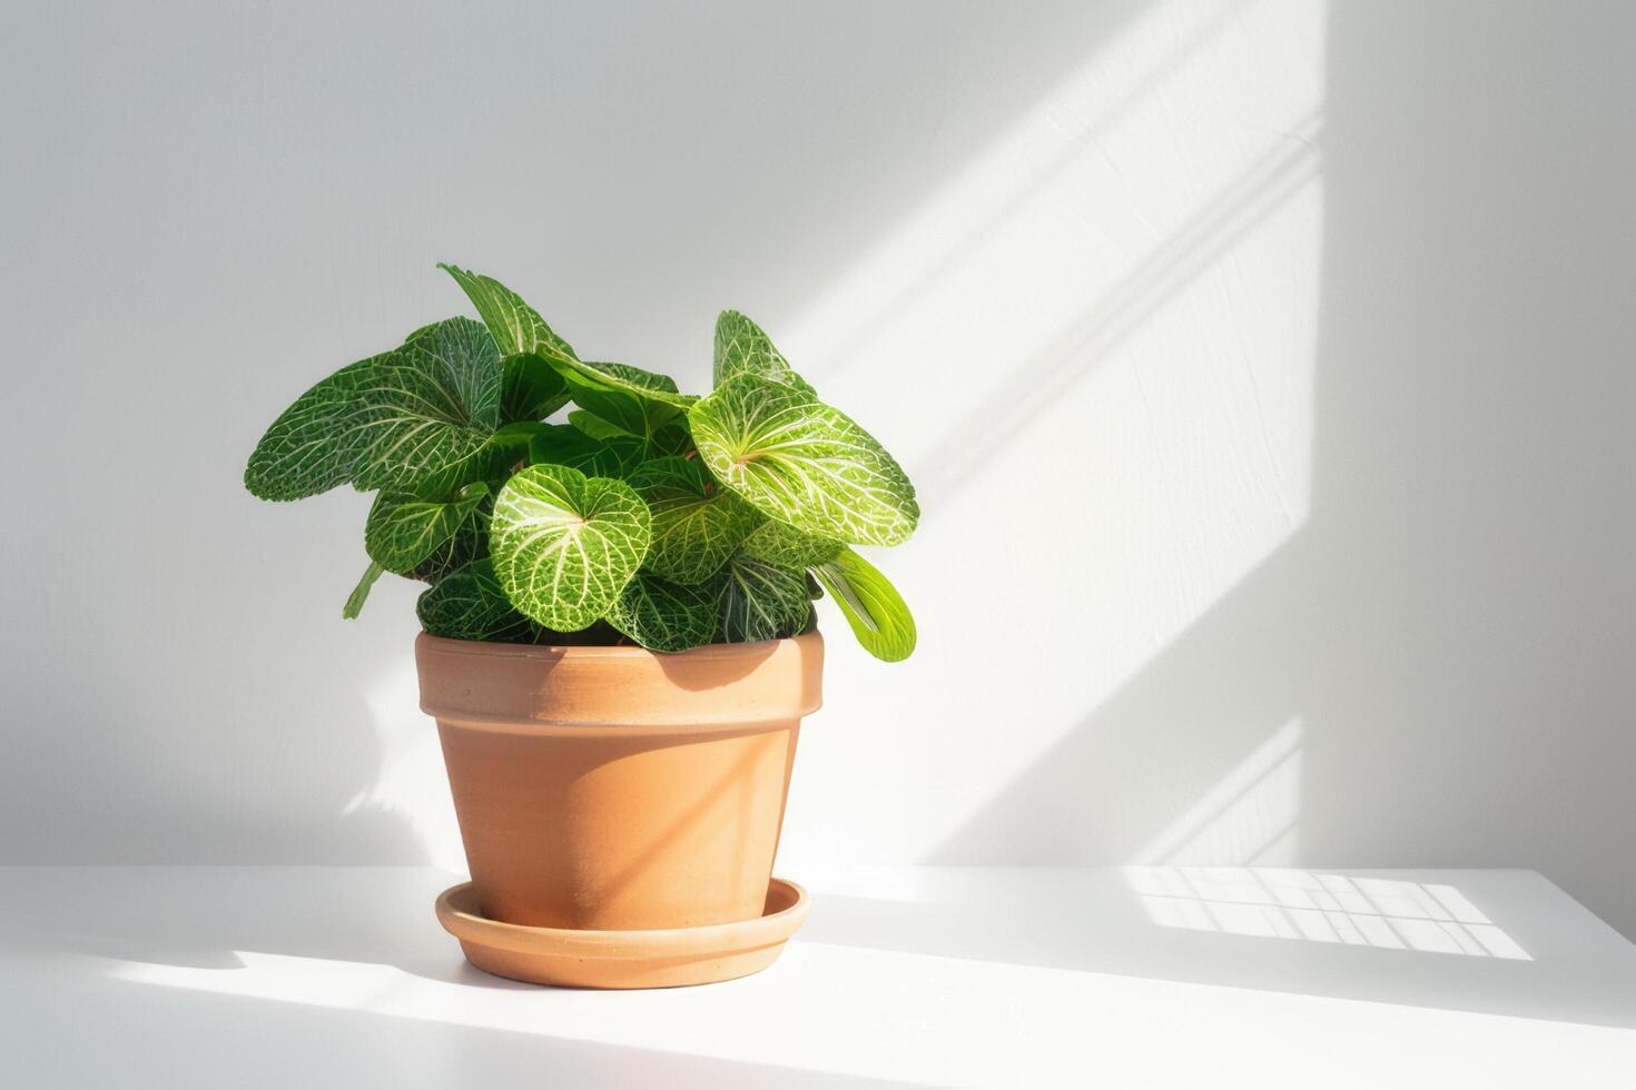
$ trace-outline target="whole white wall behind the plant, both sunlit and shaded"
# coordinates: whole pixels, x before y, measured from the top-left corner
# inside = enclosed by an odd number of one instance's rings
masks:
[[[337,619],[365,500],[239,487],[456,260],[684,389],[741,307],[921,485],[784,871],[1518,864],[1636,928],[1628,8],[591,7],[13,13],[0,861],[458,864],[414,587]]]

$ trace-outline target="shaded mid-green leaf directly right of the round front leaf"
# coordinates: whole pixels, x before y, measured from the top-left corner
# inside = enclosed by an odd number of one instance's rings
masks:
[[[645,567],[677,583],[702,583],[715,575],[761,521],[756,508],[685,458],[643,462],[630,485],[653,511]]]

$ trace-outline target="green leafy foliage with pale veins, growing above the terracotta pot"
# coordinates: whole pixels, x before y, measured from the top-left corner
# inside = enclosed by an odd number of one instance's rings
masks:
[[[329,376],[244,471],[263,500],[376,492],[342,616],[394,572],[430,583],[434,636],[677,652],[802,632],[828,590],[870,654],[915,650],[903,598],[851,547],[908,539],[915,487],[754,322],[721,312],[715,389],[695,397],[582,361],[499,281],[442,268],[483,320]]]

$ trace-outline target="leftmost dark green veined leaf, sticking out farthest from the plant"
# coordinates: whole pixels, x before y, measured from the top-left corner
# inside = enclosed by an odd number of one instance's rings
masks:
[[[352,480],[368,446],[360,391],[383,353],[316,384],[273,420],[244,469],[244,487],[263,500],[299,500]]]

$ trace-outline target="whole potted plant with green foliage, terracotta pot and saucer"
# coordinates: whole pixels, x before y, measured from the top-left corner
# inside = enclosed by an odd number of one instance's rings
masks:
[[[471,882],[438,917],[479,967],[641,987],[769,964],[772,878],[828,593],[883,660],[915,621],[852,546],[919,518],[898,462],[725,310],[713,389],[581,360],[501,283],[303,394],[245,487],[375,492],[368,567],[424,580],[416,659]],[[566,410],[561,422],[553,422]]]

